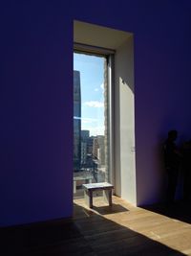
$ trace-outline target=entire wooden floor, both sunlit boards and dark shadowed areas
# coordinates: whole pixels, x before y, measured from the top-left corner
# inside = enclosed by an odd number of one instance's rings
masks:
[[[71,221],[0,229],[0,255],[191,255],[188,204],[134,207],[113,197],[113,206],[94,198],[74,200]]]

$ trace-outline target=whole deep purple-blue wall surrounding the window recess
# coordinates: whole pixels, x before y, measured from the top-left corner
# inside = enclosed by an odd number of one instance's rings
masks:
[[[159,143],[191,137],[189,1],[32,2],[0,9],[0,225],[72,216],[74,19],[135,34],[138,203],[158,200]]]

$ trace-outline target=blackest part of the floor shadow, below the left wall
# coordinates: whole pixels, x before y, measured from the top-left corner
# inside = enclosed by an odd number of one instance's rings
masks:
[[[0,228],[0,255],[68,256],[94,254],[74,221],[61,219]]]

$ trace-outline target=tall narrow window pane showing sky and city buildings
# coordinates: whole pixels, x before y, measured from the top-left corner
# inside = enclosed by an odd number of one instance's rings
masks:
[[[74,197],[109,181],[107,58],[74,53]]]

